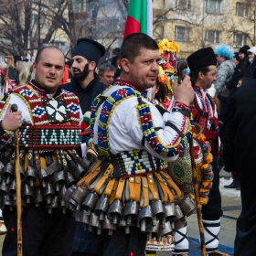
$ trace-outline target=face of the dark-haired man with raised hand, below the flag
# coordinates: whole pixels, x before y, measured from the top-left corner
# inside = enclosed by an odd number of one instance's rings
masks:
[[[158,62],[160,60],[159,50],[140,50],[141,55],[137,56],[133,63],[127,62],[127,79],[142,89],[148,89],[155,85],[158,75]]]

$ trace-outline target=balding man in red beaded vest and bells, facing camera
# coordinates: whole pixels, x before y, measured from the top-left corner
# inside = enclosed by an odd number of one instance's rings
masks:
[[[11,89],[0,101],[3,255],[17,255],[16,182],[12,131],[18,128],[22,187],[23,255],[70,255],[75,219],[65,202],[89,163],[80,158],[78,98],[62,91],[65,58],[59,48],[42,48],[33,64],[35,80]],[[16,103],[17,112],[11,112]]]

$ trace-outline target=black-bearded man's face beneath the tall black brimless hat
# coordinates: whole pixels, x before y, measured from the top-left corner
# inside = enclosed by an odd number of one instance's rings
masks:
[[[89,74],[89,61],[80,55],[72,58],[72,71],[74,78],[77,80],[85,80]]]

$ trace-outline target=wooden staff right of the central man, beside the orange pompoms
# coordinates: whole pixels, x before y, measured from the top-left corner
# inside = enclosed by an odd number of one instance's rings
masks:
[[[197,169],[196,169],[196,162],[194,157],[193,138],[191,138],[189,142],[189,147],[190,147],[189,151],[190,151],[191,165],[192,165],[192,179],[194,184],[196,207],[197,207],[197,220],[198,220],[198,227],[199,227],[200,240],[201,240],[201,256],[207,256],[205,236],[204,236],[204,226],[203,226],[203,219],[202,219],[202,213],[201,213],[201,204],[200,204],[200,198],[199,198],[199,189],[197,184]]]

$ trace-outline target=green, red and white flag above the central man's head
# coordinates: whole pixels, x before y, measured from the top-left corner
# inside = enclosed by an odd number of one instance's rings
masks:
[[[130,0],[123,39],[138,32],[153,37],[152,0]]]

